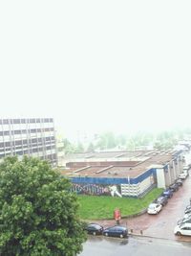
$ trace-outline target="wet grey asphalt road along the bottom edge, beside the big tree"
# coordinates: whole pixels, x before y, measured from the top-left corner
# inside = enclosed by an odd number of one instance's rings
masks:
[[[89,237],[79,256],[190,256],[191,244],[145,237]]]

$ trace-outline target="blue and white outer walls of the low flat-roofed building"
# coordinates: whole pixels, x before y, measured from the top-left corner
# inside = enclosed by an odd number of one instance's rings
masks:
[[[97,190],[98,193],[103,191],[101,195],[106,195],[107,188],[110,186],[117,186],[117,189],[123,197],[140,197],[146,193],[151,187],[157,186],[159,188],[165,189],[175,182],[175,179],[178,178],[182,172],[182,151],[177,151],[172,160],[168,160],[165,163],[156,163],[150,165],[150,169],[142,170],[142,174],[137,177],[96,177],[96,176],[74,176],[71,177],[72,183],[74,183],[75,188],[80,188],[80,191],[87,191],[94,194],[94,191]],[[96,159],[97,163],[100,162]],[[74,165],[82,164],[83,161],[74,161]],[[86,159],[87,162],[91,165],[90,159]],[[104,161],[103,164],[109,161]],[[110,162],[111,164],[111,162]],[[99,163],[100,165],[100,163]],[[82,164],[84,166],[84,162]],[[97,188],[97,189],[96,189]],[[108,189],[109,190],[109,189]]]

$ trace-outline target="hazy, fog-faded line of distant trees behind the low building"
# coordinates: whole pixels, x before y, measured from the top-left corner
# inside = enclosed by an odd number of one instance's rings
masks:
[[[112,131],[96,134],[89,143],[78,141],[70,142],[63,139],[63,151],[72,152],[94,152],[97,150],[137,150],[138,148],[154,148],[167,150],[176,146],[180,140],[191,138],[191,128],[162,130],[159,132],[138,131],[133,134],[116,135]]]

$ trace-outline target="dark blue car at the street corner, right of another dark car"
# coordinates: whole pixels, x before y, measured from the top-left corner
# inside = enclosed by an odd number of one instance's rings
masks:
[[[128,236],[128,229],[125,226],[115,225],[105,228],[103,230],[103,235],[106,237],[125,238]]]

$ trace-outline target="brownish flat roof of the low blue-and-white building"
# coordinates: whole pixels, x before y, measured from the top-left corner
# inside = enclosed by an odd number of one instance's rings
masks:
[[[62,175],[66,176],[89,176],[89,177],[130,177],[135,178],[138,175],[145,173],[154,165],[164,166],[168,164],[178,151],[107,151],[96,152],[90,155],[88,161],[83,162],[85,153],[73,154],[66,157],[68,162],[75,162],[76,159],[81,159],[80,167],[66,168],[61,170]],[[120,155],[120,156],[119,156]],[[107,156],[107,157],[106,157]],[[127,166],[112,165],[108,162],[105,165],[105,160],[113,159],[115,162],[124,161],[127,157],[131,157],[131,161]],[[119,158],[119,159],[118,159]],[[104,166],[97,166],[97,159],[99,162],[104,161]],[[117,160],[117,161],[116,161]],[[95,165],[94,165],[95,161]],[[132,163],[135,161],[135,165]],[[91,165],[89,165],[91,163]],[[111,162],[112,163],[112,162]]]

